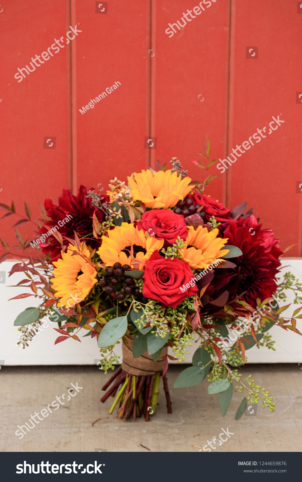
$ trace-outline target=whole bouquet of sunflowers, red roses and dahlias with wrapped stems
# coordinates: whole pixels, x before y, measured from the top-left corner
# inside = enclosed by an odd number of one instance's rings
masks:
[[[222,415],[233,388],[245,391],[235,418],[252,403],[274,411],[275,403],[238,367],[257,345],[273,348],[268,330],[274,324],[301,335],[296,327],[301,308],[282,318],[286,289],[301,302],[301,284],[290,273],[277,284],[282,251],[271,229],[262,229],[247,203],[231,209],[204,194],[202,184],[181,170],[176,158],[171,170],[158,166],[128,177],[116,177],[107,195],[81,186],[77,196],[63,190],[59,205],[46,199],[38,220],[38,239],[19,245],[36,247],[23,256],[10,275],[24,272],[17,286],[30,287],[12,299],[41,298],[14,324],[21,336],[16,345],[28,346],[41,325],[57,321],[55,344],[84,336],[95,338],[100,365],[107,373],[119,364],[114,349],[122,343],[123,362],[114,371],[101,401],[114,400],[110,413],[128,419],[154,415],[163,378],[168,413],[172,413],[166,371],[168,360],[185,360],[188,346],[197,343],[192,366],[178,376],[174,387],[197,385],[206,376],[208,393],[219,393]],[[196,163],[196,161],[194,161]],[[159,163],[158,163],[159,164]],[[12,207],[1,204],[6,215]],[[31,214],[25,204],[27,218]],[[246,212],[246,214],[245,214]],[[1,240],[6,253],[9,247]],[[15,254],[14,254],[15,256]],[[22,256],[21,256],[22,257]],[[25,258],[25,259],[24,259]],[[169,348],[169,353],[168,353]]]

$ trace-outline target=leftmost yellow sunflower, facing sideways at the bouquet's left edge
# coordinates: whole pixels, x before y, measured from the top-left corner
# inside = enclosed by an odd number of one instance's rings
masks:
[[[95,268],[87,263],[80,254],[73,256],[74,251],[78,250],[75,246],[69,244],[66,253],[61,252],[62,259],[54,261],[53,275],[55,278],[51,282],[56,291],[55,296],[61,298],[57,303],[58,307],[72,307],[75,301],[71,295],[78,300],[83,300],[97,282]],[[87,258],[90,256],[84,242],[81,243],[79,252]]]

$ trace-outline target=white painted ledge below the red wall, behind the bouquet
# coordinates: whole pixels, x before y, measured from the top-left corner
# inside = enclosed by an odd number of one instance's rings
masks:
[[[96,339],[89,337],[80,338],[82,343],[73,339],[54,345],[58,334],[53,330],[57,327],[56,323],[50,325],[45,332],[37,335],[36,338],[28,344],[25,349],[18,350],[14,344],[17,341],[17,335],[20,335],[14,326],[14,320],[17,315],[25,308],[30,306],[38,306],[39,299],[28,297],[23,300],[8,301],[21,293],[32,293],[31,290],[22,287],[9,287],[9,285],[17,284],[24,278],[23,273],[15,273],[8,278],[8,272],[15,262],[4,262],[0,265],[0,273],[5,271],[5,283],[0,282],[0,360],[4,360],[5,365],[92,365],[95,359],[99,359],[99,349],[96,345]],[[290,265],[288,267],[288,265]],[[302,258],[282,258],[283,272],[291,271],[297,278],[302,273]],[[1,274],[0,274],[1,278]],[[293,296],[288,296],[288,303],[293,301]],[[292,307],[297,308],[298,305],[292,305],[288,314],[292,313]],[[291,309],[292,308],[292,309]],[[291,311],[290,311],[291,310]],[[302,332],[302,320],[298,321],[298,329]],[[302,336],[292,332],[285,332],[281,328],[273,327],[270,330],[275,340],[276,351],[267,348],[253,347],[247,350],[247,359],[250,363],[298,363],[302,362]],[[121,356],[121,345],[118,346],[116,353]],[[192,343],[192,347],[188,348],[189,354],[186,355],[184,363],[192,361],[192,354],[198,344]],[[169,348],[172,355],[172,350]],[[169,363],[177,363],[171,362]],[[301,363],[302,366],[302,363]]]

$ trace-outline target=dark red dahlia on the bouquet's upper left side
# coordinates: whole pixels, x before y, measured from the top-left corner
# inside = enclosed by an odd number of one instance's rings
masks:
[[[93,189],[93,188],[91,188]],[[63,244],[68,246],[69,241],[65,237],[74,239],[74,231],[79,238],[85,238],[85,242],[92,248],[98,248],[99,242],[93,236],[92,216],[96,211],[97,219],[103,221],[103,213],[91,204],[91,199],[86,198],[87,189],[80,186],[77,196],[71,194],[70,189],[63,189],[62,196],[59,197],[59,205],[56,206],[51,199],[45,199],[44,206],[46,214],[51,218],[38,230],[39,233],[51,233],[50,229],[57,229],[63,238]],[[109,196],[104,196],[102,202],[108,202]],[[41,243],[43,253],[51,253],[51,260],[56,261],[61,256],[61,245],[51,234],[45,237],[45,242]]]

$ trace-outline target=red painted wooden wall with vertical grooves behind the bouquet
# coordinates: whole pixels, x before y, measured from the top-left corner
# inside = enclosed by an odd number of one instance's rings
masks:
[[[38,203],[57,200],[63,187],[105,192],[113,176],[126,180],[156,160],[169,167],[172,157],[203,180],[206,172],[192,161],[202,160],[206,136],[210,159],[221,160],[251,138],[254,146],[246,144],[231,166],[224,162],[223,173],[210,167],[207,174],[218,177],[206,194],[231,208],[247,201],[281,248],[294,244],[287,254],[301,255],[297,1],[3,0],[2,8],[1,203],[13,199],[23,214],[26,199],[40,217]],[[48,60],[14,78],[49,47]],[[268,134],[272,116],[285,122]],[[264,126],[256,143],[251,136]],[[146,136],[156,137],[156,149],[145,148]],[[43,148],[44,137],[56,138],[55,149]],[[0,236],[11,245],[18,219],[1,221]],[[28,238],[32,228],[19,230]]]

